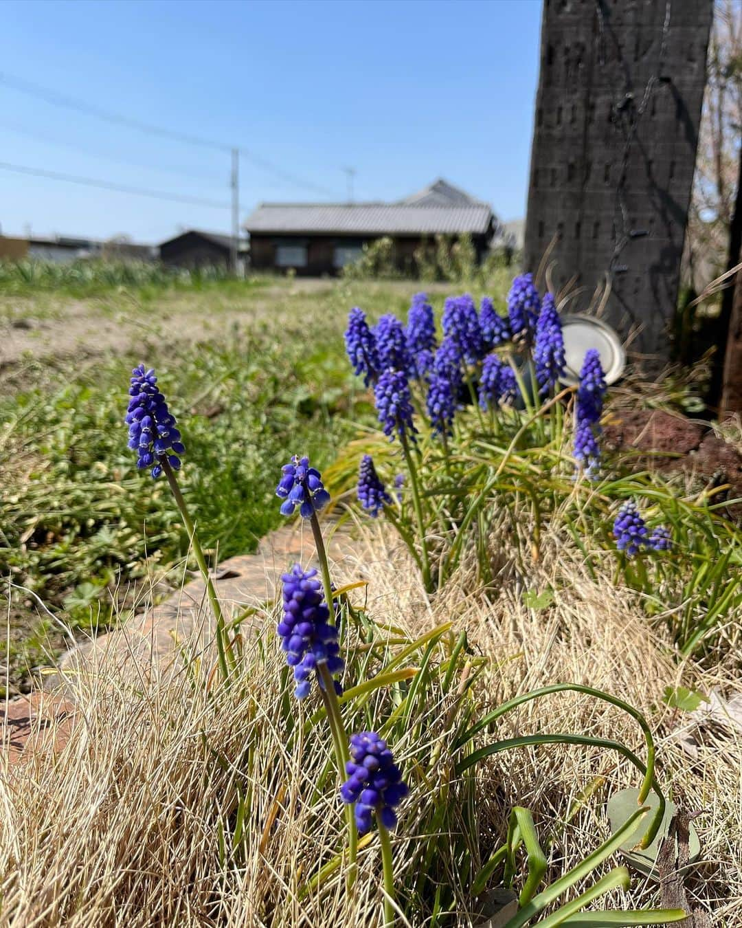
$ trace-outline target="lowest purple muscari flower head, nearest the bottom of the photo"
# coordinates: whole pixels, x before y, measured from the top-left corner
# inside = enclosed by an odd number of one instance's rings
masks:
[[[340,787],[344,803],[355,803],[355,824],[361,833],[371,830],[371,815],[388,829],[397,824],[395,806],[409,793],[402,771],[394,763],[387,742],[375,731],[351,735],[351,759],[345,765],[349,779]]]

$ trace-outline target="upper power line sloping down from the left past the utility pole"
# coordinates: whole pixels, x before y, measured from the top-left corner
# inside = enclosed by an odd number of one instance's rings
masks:
[[[169,138],[183,145],[195,145],[200,148],[212,148],[216,151],[229,151],[230,153],[234,148],[238,148],[240,157],[245,158],[247,161],[251,161],[256,167],[261,168],[263,171],[275,174],[276,177],[280,177],[289,184],[311,189],[317,193],[325,194],[326,196],[335,196],[335,192],[328,187],[323,187],[321,184],[315,184],[313,181],[306,180],[298,174],[285,171],[279,165],[275,164],[274,161],[254,154],[249,148],[227,145],[225,142],[217,142],[213,139],[204,138],[201,135],[190,135],[189,133],[177,132],[172,129],[163,129],[161,126],[154,125],[151,122],[143,122],[141,120],[132,119],[129,116],[123,116],[121,113],[104,110],[101,107],[86,103],[84,100],[78,99],[77,97],[68,97],[64,94],[59,94],[56,90],[43,87],[41,84],[32,84],[30,81],[15,77],[12,74],[8,74],[6,71],[0,72],[0,84],[4,84],[12,90],[17,90],[21,94],[27,94],[31,97],[45,100],[45,102],[51,103],[53,106],[66,107],[68,110],[77,110],[88,116],[94,116],[96,119],[112,122],[116,125],[123,125],[129,129],[136,129],[139,132],[149,135],[159,135],[160,138]]]

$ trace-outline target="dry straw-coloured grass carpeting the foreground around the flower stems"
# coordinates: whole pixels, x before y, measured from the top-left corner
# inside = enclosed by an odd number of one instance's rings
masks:
[[[467,628],[471,644],[491,661],[478,689],[482,711],[559,681],[608,690],[643,710],[658,740],[660,782],[684,809],[699,813],[703,863],[687,877],[689,898],[710,910],[713,924],[742,925],[742,739],[727,728],[701,729],[692,761],[676,738],[686,716],[661,702],[664,688],[679,682],[732,696],[742,690],[736,665],[730,658],[710,672],[679,664],[671,639],[642,617],[635,593],[613,586],[608,568],[597,582],[583,577],[564,553],[547,537],[528,578],[504,572],[497,590],[478,592],[460,574],[429,604],[406,554],[377,527],[359,535],[356,562],[335,579],[367,578],[369,613],[411,634],[449,618],[456,629]],[[519,587],[544,588],[546,581],[560,590],[553,605],[541,612],[524,607]],[[321,896],[299,896],[338,843],[342,818],[331,780],[313,794],[326,763],[326,729],[287,751],[280,656],[271,634],[264,642],[264,653],[258,643],[249,647],[240,685],[228,692],[192,687],[185,672],[158,681],[134,666],[105,663],[70,678],[79,705],[73,739],[54,762],[37,755],[0,781],[2,924],[380,923],[375,841],[360,855],[352,896],[339,873],[326,879]],[[440,703],[424,711],[440,716]],[[643,753],[630,718],[576,694],[527,703],[499,724],[503,738],[574,731]],[[403,767],[405,755],[419,748],[412,738],[394,745]],[[498,754],[478,776],[478,818],[469,827],[482,841],[502,836],[509,809],[528,806],[543,841],[555,839],[547,852],[551,878],[608,836],[608,795],[638,785],[619,756],[580,747]],[[585,791],[592,795],[580,802]],[[234,810],[246,794],[243,833],[220,850],[224,823],[234,831]],[[425,840],[416,829],[418,810],[435,801],[435,790],[419,783],[405,801],[395,838],[400,884],[411,882],[410,847]],[[459,923],[470,923],[467,900],[458,895]],[[637,876],[631,893],[612,901],[658,905],[659,891]],[[409,923],[424,922],[411,915]]]

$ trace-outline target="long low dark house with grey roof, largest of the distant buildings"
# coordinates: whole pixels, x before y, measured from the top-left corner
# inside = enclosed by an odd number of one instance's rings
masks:
[[[248,218],[253,270],[320,276],[356,261],[366,244],[388,237],[401,270],[437,235],[471,236],[480,261],[499,226],[489,204],[444,180],[394,203],[261,203]]]

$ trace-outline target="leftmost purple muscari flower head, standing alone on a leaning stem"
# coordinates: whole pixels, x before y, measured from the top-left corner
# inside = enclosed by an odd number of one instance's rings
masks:
[[[175,428],[175,417],[168,410],[165,397],[157,386],[155,371],[144,364],[134,367],[129,388],[129,409],[125,422],[129,426],[129,447],[136,451],[136,466],[151,467],[154,478],[162,473],[165,460],[173,470],[180,469],[185,446]]]

